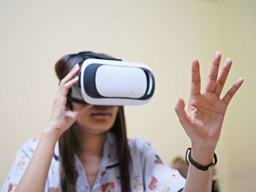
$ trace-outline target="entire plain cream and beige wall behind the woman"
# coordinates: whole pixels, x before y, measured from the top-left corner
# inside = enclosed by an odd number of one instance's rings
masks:
[[[219,50],[222,65],[233,58],[224,91],[245,82],[227,110],[216,177],[220,191],[255,191],[255,8],[254,0],[0,0],[0,186],[18,148],[48,125],[61,56],[93,50],[151,66],[154,97],[126,107],[128,134],[170,164],[190,146],[173,108],[189,98],[191,61],[199,58],[204,88]]]

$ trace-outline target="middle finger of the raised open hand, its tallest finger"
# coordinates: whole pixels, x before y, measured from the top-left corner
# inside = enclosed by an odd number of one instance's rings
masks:
[[[219,64],[220,64],[221,58],[222,58],[222,53],[219,53],[219,52],[215,53],[214,60],[212,61],[212,64],[211,64],[211,71],[208,76],[208,82],[206,84],[206,92],[208,92],[208,93],[214,92],[215,84],[216,84],[217,77],[218,77]]]

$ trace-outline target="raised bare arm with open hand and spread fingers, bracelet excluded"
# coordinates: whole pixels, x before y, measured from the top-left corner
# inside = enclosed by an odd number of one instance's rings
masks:
[[[175,107],[181,126],[191,140],[192,158],[202,166],[213,162],[214,150],[219,141],[227,105],[244,82],[239,78],[225,96],[222,99],[219,98],[232,65],[232,60],[227,59],[217,79],[221,57],[221,53],[214,55],[204,93],[200,93],[199,62],[197,59],[192,62],[192,85],[188,110],[187,112],[184,110],[183,99],[178,99]],[[184,191],[211,191],[211,174],[211,170],[204,172],[189,164]]]

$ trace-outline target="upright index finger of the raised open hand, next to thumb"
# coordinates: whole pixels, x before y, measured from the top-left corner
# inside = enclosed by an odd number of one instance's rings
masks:
[[[191,90],[192,96],[200,94],[201,78],[200,78],[200,66],[197,59],[192,62],[192,77],[191,77]]]

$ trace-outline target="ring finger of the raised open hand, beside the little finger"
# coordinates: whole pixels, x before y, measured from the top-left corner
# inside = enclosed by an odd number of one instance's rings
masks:
[[[220,94],[222,93],[222,89],[225,85],[225,82],[227,80],[227,76],[230,72],[230,68],[232,66],[232,60],[230,58],[227,58],[226,62],[225,62],[225,66],[222,69],[222,73],[219,75],[219,78],[217,80],[217,84],[214,88],[214,93],[217,96],[220,96]]]

